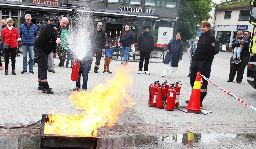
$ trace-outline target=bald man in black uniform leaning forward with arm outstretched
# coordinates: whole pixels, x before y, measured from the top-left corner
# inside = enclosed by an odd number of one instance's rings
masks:
[[[56,43],[61,43],[61,29],[65,28],[68,23],[68,18],[63,17],[59,22],[45,26],[34,43],[33,50],[38,64],[38,90],[42,90],[43,93],[53,94],[47,82],[48,56],[53,52],[53,58],[56,58]]]

